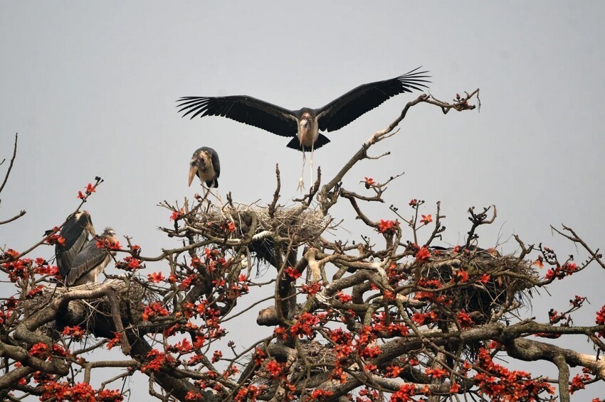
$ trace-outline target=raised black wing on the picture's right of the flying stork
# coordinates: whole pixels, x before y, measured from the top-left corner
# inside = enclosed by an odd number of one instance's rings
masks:
[[[406,72],[404,75],[391,80],[370,82],[359,85],[350,90],[321,109],[317,109],[317,122],[321,131],[335,131],[349,124],[362,114],[378,107],[386,99],[404,92],[412,92],[412,89],[423,91],[427,88],[424,82],[428,71],[416,71],[420,67]]]

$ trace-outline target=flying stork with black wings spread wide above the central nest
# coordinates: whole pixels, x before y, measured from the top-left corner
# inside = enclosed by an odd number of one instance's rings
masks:
[[[351,123],[362,114],[378,107],[386,99],[404,92],[426,88],[427,71],[420,67],[391,80],[359,85],[319,109],[303,107],[289,110],[247,95],[230,97],[181,97],[177,102],[183,116],[223,116],[256,126],[278,136],[294,137],[288,148],[302,151],[303,170],[305,151],[311,151],[311,169],[314,149],[329,143],[320,131],[335,131]],[[302,180],[302,179],[301,179]]]

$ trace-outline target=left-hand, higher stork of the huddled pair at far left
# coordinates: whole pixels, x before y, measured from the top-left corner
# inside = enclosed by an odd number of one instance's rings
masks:
[[[61,236],[65,239],[65,243],[63,245],[57,243],[55,246],[57,266],[63,278],[67,276],[75,256],[82,251],[89,236],[94,238],[95,235],[93,221],[87,211],[70,214],[61,228]]]

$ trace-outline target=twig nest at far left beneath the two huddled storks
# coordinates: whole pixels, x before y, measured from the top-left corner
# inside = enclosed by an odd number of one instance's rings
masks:
[[[103,295],[107,289],[110,289],[112,294],[115,295],[117,311],[112,310],[110,298]],[[75,298],[68,303],[61,303],[61,300],[68,293],[80,290],[85,290],[87,293],[98,291],[99,294],[91,297]],[[46,335],[52,335],[56,330],[61,332],[65,326],[79,325],[95,337],[112,338],[115,336],[115,322],[112,314],[119,315],[124,323],[138,322],[142,315],[142,306],[152,301],[149,300],[149,296],[153,295],[154,293],[148,292],[137,282],[126,283],[120,279],[114,279],[105,283],[71,288],[48,287],[36,298],[26,300],[23,307],[26,312],[34,313],[49,308],[51,305],[59,306],[56,320],[39,328]]]

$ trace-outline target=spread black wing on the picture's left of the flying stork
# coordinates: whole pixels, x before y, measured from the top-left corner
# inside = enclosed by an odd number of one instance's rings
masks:
[[[184,116],[223,116],[240,123],[249,124],[278,136],[295,136],[298,126],[294,112],[283,107],[248,97],[181,97],[177,102]]]

